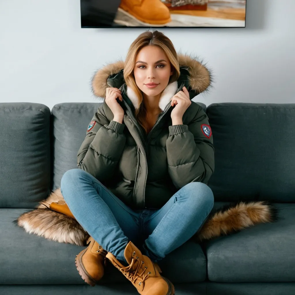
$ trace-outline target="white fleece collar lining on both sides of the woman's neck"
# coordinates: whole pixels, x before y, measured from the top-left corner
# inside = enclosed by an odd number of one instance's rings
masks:
[[[173,97],[173,95],[176,94],[177,89],[177,81],[174,81],[173,83],[168,84],[166,88],[163,90],[159,100],[159,107],[162,111],[164,111],[165,106],[167,106],[167,104],[170,102],[170,99]],[[135,109],[138,109],[139,97],[136,96],[135,92],[129,86],[127,86],[126,94],[132,102]]]

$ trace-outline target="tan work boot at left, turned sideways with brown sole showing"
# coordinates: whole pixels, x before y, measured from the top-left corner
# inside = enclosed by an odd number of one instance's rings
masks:
[[[94,287],[104,275],[108,252],[93,237],[88,238],[87,245],[87,248],[76,255],[75,261],[80,276],[87,284]]]

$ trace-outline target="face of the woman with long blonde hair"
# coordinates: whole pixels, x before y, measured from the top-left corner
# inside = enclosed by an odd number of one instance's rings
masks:
[[[157,96],[168,85],[173,74],[170,61],[164,50],[155,45],[143,47],[136,55],[134,66],[135,82],[147,96]],[[146,84],[156,83],[153,88]]]

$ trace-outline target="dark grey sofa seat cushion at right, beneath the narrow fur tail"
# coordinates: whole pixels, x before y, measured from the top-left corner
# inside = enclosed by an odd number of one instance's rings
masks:
[[[223,204],[216,202],[214,208]],[[279,221],[202,243],[210,281],[295,281],[295,204],[275,205]]]

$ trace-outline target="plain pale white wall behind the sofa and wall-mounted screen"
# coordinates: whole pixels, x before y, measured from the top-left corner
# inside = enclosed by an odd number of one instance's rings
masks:
[[[214,89],[194,101],[295,103],[294,13],[294,0],[248,0],[247,28],[158,30],[214,70]],[[144,30],[81,29],[80,0],[1,0],[0,102],[100,102],[92,74]]]

